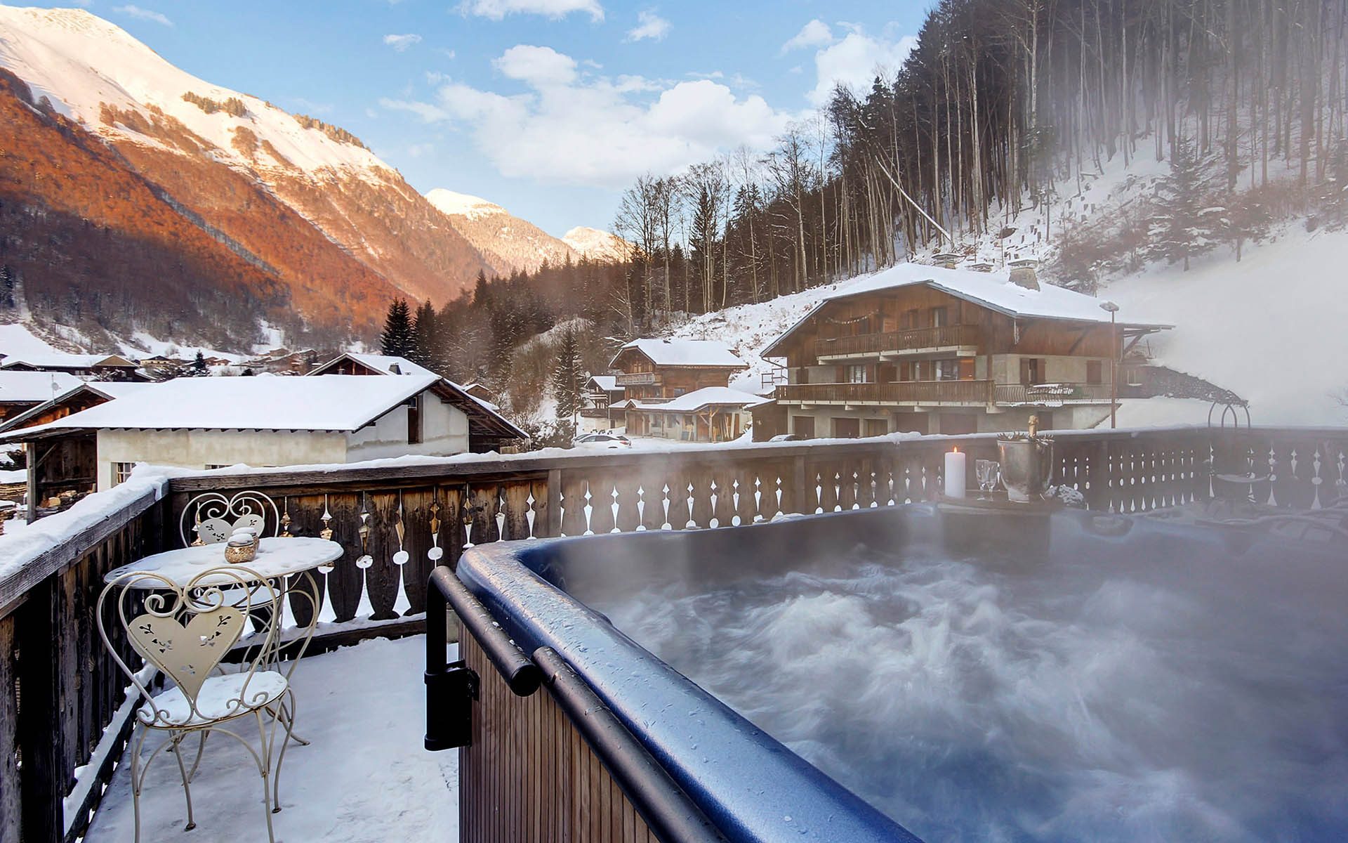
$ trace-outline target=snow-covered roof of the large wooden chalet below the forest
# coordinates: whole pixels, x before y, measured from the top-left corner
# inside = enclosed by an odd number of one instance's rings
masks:
[[[775,353],[776,347],[830,302],[914,285],[949,293],[956,298],[983,305],[1010,317],[1109,324],[1109,313],[1100,308],[1104,299],[1086,295],[1085,293],[1077,293],[1042,281],[1038,290],[1030,290],[1012,283],[1011,275],[1007,271],[979,272],[975,270],[948,270],[919,263],[900,263],[872,275],[857,278],[826,295],[799,321],[768,344],[763,349],[763,356],[780,356]],[[1117,324],[1120,328],[1159,329],[1174,326],[1148,321],[1144,317],[1139,318],[1127,310],[1119,312]]]

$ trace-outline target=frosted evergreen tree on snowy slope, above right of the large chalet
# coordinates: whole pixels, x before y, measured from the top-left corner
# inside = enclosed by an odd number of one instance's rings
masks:
[[[1216,204],[1211,185],[1211,155],[1194,152],[1188,138],[1177,138],[1170,173],[1157,185],[1157,213],[1151,217],[1151,258],[1184,262],[1212,250],[1224,237],[1227,209]]]

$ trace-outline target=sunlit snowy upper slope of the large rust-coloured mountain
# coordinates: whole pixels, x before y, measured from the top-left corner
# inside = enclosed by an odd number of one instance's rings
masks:
[[[353,135],[200,80],[84,9],[0,7],[0,66],[105,138],[243,169],[392,170]]]

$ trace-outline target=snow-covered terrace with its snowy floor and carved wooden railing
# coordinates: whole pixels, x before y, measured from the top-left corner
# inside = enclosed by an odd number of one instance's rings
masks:
[[[1348,495],[1344,428],[1139,428],[1054,437],[1057,479],[1100,511],[1181,511],[1205,507],[1215,495],[1254,499],[1263,511],[1313,510]],[[67,832],[74,839],[90,812],[86,839],[129,839],[121,751],[127,681],[88,612],[106,571],[182,545],[179,519],[198,494],[260,490],[288,517],[291,533],[315,535],[326,525],[346,550],[321,583],[315,642],[329,651],[306,658],[294,674],[297,731],[311,745],[286,757],[278,839],[453,839],[456,755],[421,745],[419,633],[437,565],[500,540],[724,527],[931,500],[942,488],[944,457],[956,446],[969,455],[969,469],[998,453],[993,434],[891,434],[173,476],[137,468],[127,483],[0,537],[0,839],[55,843]],[[1224,473],[1248,480],[1221,480]],[[208,747],[209,765],[193,786],[191,839],[266,839],[257,782],[240,773],[243,757],[224,743]],[[18,754],[22,766],[13,763]],[[160,784],[175,774],[171,762],[152,772]],[[557,786],[572,782],[562,777]],[[476,798],[483,804],[480,793]],[[151,788],[144,805],[143,839],[177,839],[181,793]]]

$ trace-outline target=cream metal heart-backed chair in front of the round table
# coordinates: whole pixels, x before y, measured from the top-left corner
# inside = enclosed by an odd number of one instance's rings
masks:
[[[109,606],[111,604],[111,606]],[[113,608],[115,607],[115,608]],[[280,765],[294,723],[295,697],[286,676],[267,670],[268,646],[248,647],[237,672],[222,672],[221,661],[243,635],[257,612],[279,618],[279,592],[253,571],[243,565],[222,565],[179,584],[154,572],[127,572],[104,587],[98,596],[98,634],[113,660],[131,678],[143,700],[136,709],[136,736],[131,742],[131,796],[140,840],[140,793],[151,763],[163,750],[178,759],[183,796],[187,801],[186,830],[195,827],[191,813],[191,781],[201,765],[206,738],[213,732],[237,740],[252,755],[262,777],[267,839],[275,840],[271,815],[280,811]],[[147,677],[127,665],[109,631],[123,630],[131,647],[150,665],[163,672],[173,687],[151,693]],[[267,623],[257,634],[276,635],[276,623]],[[119,635],[120,637],[120,635]],[[288,705],[286,704],[288,697]],[[257,728],[255,749],[236,728]],[[276,749],[278,726],[286,735]],[[142,750],[150,734],[164,740],[148,757]],[[195,758],[189,766],[183,745],[198,739]],[[275,770],[272,770],[275,761]]]

